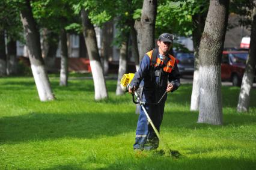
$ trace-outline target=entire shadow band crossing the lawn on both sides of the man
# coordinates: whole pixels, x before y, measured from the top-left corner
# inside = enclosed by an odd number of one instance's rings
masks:
[[[253,115],[230,115],[226,125],[239,126],[255,123]],[[135,132],[138,115],[133,113],[79,113],[79,114],[41,114],[32,113],[16,117],[0,118],[0,142],[20,142],[29,140],[70,138],[102,138],[121,133]],[[197,124],[197,114],[186,112],[166,113],[161,129],[178,133],[190,133],[193,129],[219,130],[221,126]],[[215,133],[218,133],[217,131]]]

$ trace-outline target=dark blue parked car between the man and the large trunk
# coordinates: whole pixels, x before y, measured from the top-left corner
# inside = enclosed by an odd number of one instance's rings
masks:
[[[174,57],[177,59],[178,70],[180,75],[194,73],[194,53],[193,52],[175,52]]]

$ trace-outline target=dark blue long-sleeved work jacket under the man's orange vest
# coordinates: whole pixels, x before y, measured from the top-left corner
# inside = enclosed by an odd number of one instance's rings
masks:
[[[157,53],[157,58],[159,58],[159,53]],[[142,85],[144,86],[144,90],[165,91],[169,81],[174,87],[172,91],[177,90],[180,86],[180,72],[178,71],[177,63],[175,62],[171,73],[162,70],[162,76],[160,78],[154,75],[154,68],[150,65],[150,62],[150,57],[146,53],[140,63],[139,70],[135,73],[135,76],[130,83],[131,87],[135,87],[136,89],[139,85]],[[156,82],[158,82],[160,86],[157,86]]]

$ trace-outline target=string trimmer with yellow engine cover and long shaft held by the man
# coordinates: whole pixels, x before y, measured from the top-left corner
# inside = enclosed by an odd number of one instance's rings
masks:
[[[121,79],[121,87],[123,88],[123,90],[127,91],[129,89],[130,82],[132,82],[133,77],[134,77],[133,73],[124,74],[124,76]],[[145,102],[142,102],[141,98],[139,97],[139,94],[136,91],[134,92],[134,94],[132,94],[132,97],[133,97],[133,103],[141,105],[141,108],[143,109],[143,111],[144,111],[144,113],[145,113],[145,115],[147,117],[148,123],[150,123],[150,125],[153,128],[154,133],[156,133],[156,136],[159,139],[159,141],[162,141],[166,145],[166,147],[168,148],[169,155],[172,156],[172,157],[176,157],[177,158],[177,157],[180,156],[180,153],[178,151],[171,150],[169,148],[168,144],[165,141],[163,141],[162,137],[160,137],[160,134],[159,134],[158,130],[154,126],[153,121],[151,120],[150,116],[148,115],[148,113],[147,113],[147,111],[146,111],[146,109],[144,107],[145,104],[147,104],[147,105],[158,105],[162,101],[163,97],[166,94],[167,94],[167,91],[165,91],[163,96],[156,103],[145,103]],[[134,96],[136,96],[137,102],[135,101]]]

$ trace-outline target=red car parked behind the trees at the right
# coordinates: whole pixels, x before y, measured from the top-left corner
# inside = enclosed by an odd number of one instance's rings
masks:
[[[248,51],[223,51],[221,79],[231,81],[234,86],[240,86],[247,57]]]

